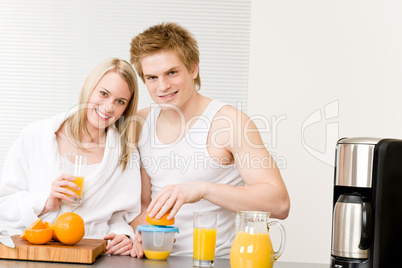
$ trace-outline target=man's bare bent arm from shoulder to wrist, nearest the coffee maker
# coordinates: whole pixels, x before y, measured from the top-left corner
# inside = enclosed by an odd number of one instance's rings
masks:
[[[224,107],[221,114],[232,120],[234,131],[229,136],[221,132],[222,135],[217,135],[213,142],[228,144],[224,149],[233,156],[246,186],[210,184],[205,187],[203,198],[232,211],[268,211],[272,217],[286,218],[290,208],[289,195],[256,125],[246,114],[233,107]],[[214,122],[211,133],[227,128],[227,124],[225,120]]]

